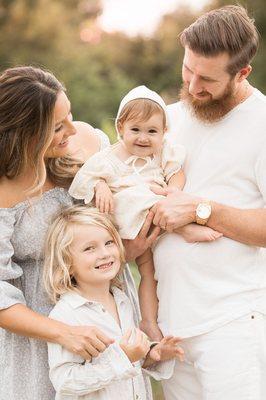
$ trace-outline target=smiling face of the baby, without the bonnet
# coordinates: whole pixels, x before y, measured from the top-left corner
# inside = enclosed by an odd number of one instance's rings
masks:
[[[121,138],[132,155],[148,157],[159,153],[162,148],[165,128],[160,113],[146,121],[126,121],[120,129]]]

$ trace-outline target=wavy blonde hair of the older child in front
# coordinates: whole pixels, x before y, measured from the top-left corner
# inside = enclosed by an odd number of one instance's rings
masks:
[[[47,233],[44,259],[44,286],[50,299],[56,303],[60,295],[76,289],[72,274],[71,243],[74,239],[73,226],[90,225],[106,229],[120,252],[121,267],[112,285],[122,288],[122,272],[125,264],[125,250],[118,231],[106,214],[96,208],[75,205],[64,208],[55,218]]]

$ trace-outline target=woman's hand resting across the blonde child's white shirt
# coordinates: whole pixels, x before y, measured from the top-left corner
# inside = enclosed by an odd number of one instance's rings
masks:
[[[114,343],[114,340],[94,326],[68,325],[67,329],[62,331],[57,343],[71,353],[90,361],[92,357],[97,357],[111,343]]]

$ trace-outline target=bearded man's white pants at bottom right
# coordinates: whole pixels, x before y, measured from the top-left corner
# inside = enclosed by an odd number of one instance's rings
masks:
[[[266,317],[252,313],[184,339],[165,400],[266,400]]]

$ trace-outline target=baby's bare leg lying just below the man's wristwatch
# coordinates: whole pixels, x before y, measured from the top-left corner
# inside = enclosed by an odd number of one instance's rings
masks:
[[[208,226],[198,224],[188,224],[177,230],[186,242],[212,242],[223,236],[222,233],[215,231]]]

